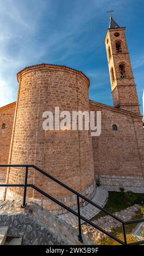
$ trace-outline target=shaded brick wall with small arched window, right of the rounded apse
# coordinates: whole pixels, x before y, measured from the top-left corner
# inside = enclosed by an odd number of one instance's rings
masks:
[[[102,113],[102,133],[92,137],[96,179],[102,184],[144,186],[144,131],[141,115],[90,101]],[[117,131],[112,131],[112,125]]]

